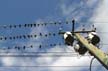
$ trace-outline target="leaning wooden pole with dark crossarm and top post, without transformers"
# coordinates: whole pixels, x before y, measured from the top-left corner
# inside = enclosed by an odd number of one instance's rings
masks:
[[[72,35],[75,36],[77,41],[80,41],[82,45],[86,47],[86,49],[108,70],[108,55],[105,54],[102,50],[94,46],[91,42],[89,42],[85,37],[80,35],[80,33],[89,33],[89,32],[96,32],[96,28],[93,29],[92,31],[75,31],[75,20],[72,20]],[[66,32],[59,32],[59,34],[64,34]],[[69,34],[67,35],[69,36]],[[71,36],[71,37],[73,37]],[[71,37],[68,37],[71,38]],[[74,40],[74,39],[73,39]],[[67,42],[73,43],[70,40],[65,40]],[[94,39],[95,41],[95,39]]]

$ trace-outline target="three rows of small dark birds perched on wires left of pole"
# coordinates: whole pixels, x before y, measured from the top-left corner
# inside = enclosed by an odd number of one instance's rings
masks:
[[[50,23],[34,23],[34,24],[18,24],[18,25],[2,25],[0,26],[0,29],[15,29],[15,28],[26,28],[26,27],[29,27],[29,28],[32,28],[32,27],[39,27],[39,26],[47,26],[49,24],[52,24],[52,25],[62,25],[62,23],[65,23],[65,24],[72,24],[71,21],[66,21],[66,22],[50,22]],[[83,25],[84,27],[84,25]],[[93,25],[94,27],[94,25]],[[82,29],[83,30],[83,29]],[[50,36],[58,36],[60,35],[59,32],[56,32],[56,33],[53,33],[53,32],[49,32],[49,33],[46,33],[46,34],[43,34],[43,33],[39,33],[39,34],[23,34],[23,35],[16,35],[16,36],[0,36],[0,41],[1,40],[17,40],[17,39],[32,39],[32,38],[37,38],[38,36],[39,37],[50,37]],[[58,44],[48,44],[46,47],[50,46],[50,47],[54,47],[56,45],[65,45],[63,43],[58,43]],[[30,48],[33,48],[34,46],[31,45]],[[37,46],[36,46],[37,47]],[[39,48],[42,48],[44,47],[43,45],[39,45],[38,46]],[[13,47],[14,49],[26,49],[28,48],[27,46],[14,46]],[[12,47],[7,47],[7,49],[12,49]]]

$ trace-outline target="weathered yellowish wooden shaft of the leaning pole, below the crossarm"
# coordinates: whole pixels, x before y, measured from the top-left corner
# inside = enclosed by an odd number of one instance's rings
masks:
[[[80,41],[89,52],[108,70],[108,55],[105,54],[102,50],[94,46],[92,43],[89,43],[87,39],[81,36],[79,33],[74,33],[77,40]]]

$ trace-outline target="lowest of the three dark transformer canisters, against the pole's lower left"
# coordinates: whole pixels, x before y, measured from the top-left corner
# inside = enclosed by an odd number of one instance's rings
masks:
[[[87,48],[82,43],[80,43],[79,41],[77,44],[75,44],[74,49],[80,55],[84,55],[87,52]]]

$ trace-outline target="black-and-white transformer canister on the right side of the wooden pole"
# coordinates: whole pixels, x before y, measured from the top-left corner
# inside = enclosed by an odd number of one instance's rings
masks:
[[[90,32],[88,34],[88,41],[90,43],[92,43],[93,45],[96,45],[100,42],[100,38],[99,38],[99,36],[97,35],[96,32]]]

